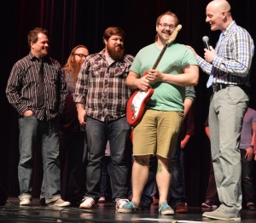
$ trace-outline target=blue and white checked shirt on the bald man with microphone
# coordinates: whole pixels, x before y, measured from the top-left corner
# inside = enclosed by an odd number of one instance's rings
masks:
[[[207,63],[201,57],[196,60],[203,71],[210,74],[214,66],[212,83],[250,86],[250,67],[253,60],[253,38],[235,21],[223,31],[224,37],[218,47],[218,56]]]

